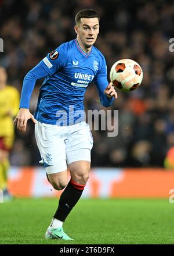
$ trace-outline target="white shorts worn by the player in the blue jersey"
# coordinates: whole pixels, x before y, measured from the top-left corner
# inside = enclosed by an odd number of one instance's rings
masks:
[[[48,174],[62,172],[75,161],[89,161],[93,138],[86,122],[71,126],[37,122],[35,138]]]

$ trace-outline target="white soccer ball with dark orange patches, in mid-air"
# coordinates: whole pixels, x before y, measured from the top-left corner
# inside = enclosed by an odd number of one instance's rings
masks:
[[[116,89],[133,91],[142,83],[142,67],[132,59],[121,59],[111,67],[110,79]]]

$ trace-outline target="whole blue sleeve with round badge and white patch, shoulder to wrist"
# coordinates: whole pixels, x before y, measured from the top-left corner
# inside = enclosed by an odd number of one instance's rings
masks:
[[[34,90],[35,82],[46,76],[52,76],[58,69],[66,65],[67,62],[66,44],[61,44],[55,51],[50,52],[41,62],[38,63],[24,77],[21,91],[20,108],[30,107],[30,98]]]

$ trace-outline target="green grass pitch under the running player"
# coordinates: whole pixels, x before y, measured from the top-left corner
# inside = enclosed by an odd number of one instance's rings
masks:
[[[0,204],[0,244],[174,244],[168,199],[81,199],[64,223],[74,241],[45,240],[56,199]]]

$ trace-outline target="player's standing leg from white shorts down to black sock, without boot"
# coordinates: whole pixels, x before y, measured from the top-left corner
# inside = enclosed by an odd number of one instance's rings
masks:
[[[81,198],[89,177],[90,150],[93,144],[93,139],[86,123],[70,126],[68,129],[69,136],[65,144],[66,159],[71,173],[71,180],[63,193],[61,193],[59,206],[54,215],[61,222],[66,221],[67,216],[75,207],[79,198]]]

